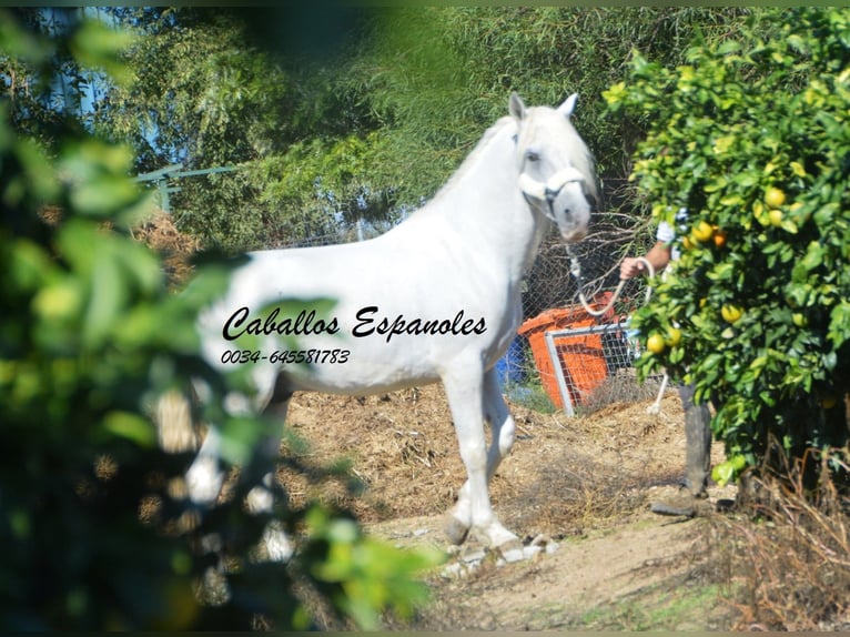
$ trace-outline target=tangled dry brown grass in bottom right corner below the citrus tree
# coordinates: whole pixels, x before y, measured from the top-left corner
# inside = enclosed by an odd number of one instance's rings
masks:
[[[826,474],[824,474],[826,475]],[[803,488],[799,464],[751,479],[739,515],[718,517],[740,630],[850,629],[850,497],[831,481]]]

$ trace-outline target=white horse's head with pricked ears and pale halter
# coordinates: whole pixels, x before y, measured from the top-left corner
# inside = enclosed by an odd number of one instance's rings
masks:
[[[587,234],[598,200],[593,155],[569,121],[577,98],[574,93],[557,109],[526,108],[514,93],[508,103],[517,122],[519,188],[568,242]]]

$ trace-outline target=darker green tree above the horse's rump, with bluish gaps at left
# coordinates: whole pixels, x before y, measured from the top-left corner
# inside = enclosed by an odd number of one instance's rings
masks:
[[[348,184],[360,170],[352,164],[362,152],[363,118],[328,79],[341,54],[328,33],[345,39],[354,18],[307,44],[305,32],[328,26],[321,8],[138,9],[115,17],[144,38],[128,55],[136,81],[111,92],[101,130],[134,140],[140,172],[174,162],[242,169],[176,184],[182,229],[236,251],[332,234],[351,210],[368,211],[362,186]],[[285,39],[269,24],[289,26]],[[330,53],[318,54],[323,46]]]

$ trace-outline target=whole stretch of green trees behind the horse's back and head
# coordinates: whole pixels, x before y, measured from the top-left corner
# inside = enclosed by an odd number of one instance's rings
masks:
[[[120,12],[145,36],[128,58],[136,82],[100,112],[104,130],[134,140],[139,170],[172,161],[244,168],[180,184],[181,228],[208,244],[272,246],[333,234],[358,219],[394,223],[446,181],[505,114],[512,90],[537,103],[580,93],[578,125],[597,152],[608,209],[627,208],[640,121],[606,118],[601,91],[621,79],[633,49],[678,63],[696,29],[719,38],[746,13],[322,11]],[[316,24],[326,29],[316,32]],[[615,225],[630,228],[631,220],[624,214]]]

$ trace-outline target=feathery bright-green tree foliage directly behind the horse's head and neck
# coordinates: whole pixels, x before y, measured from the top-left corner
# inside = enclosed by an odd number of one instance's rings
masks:
[[[695,29],[718,33],[739,16],[566,7],[386,11],[371,21],[345,78],[384,124],[383,153],[391,161],[382,166],[392,171],[385,179],[397,184],[404,204],[416,205],[445,181],[483,129],[505,114],[510,91],[543,104],[578,92],[577,125],[603,175],[624,179],[640,130],[625,131],[624,141],[624,129],[636,122],[606,118],[601,92],[621,79],[634,49],[676,63]],[[417,170],[409,170],[411,161]]]

